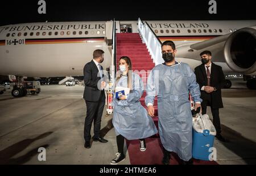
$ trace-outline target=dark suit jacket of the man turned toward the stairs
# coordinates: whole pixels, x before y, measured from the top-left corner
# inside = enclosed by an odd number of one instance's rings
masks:
[[[101,70],[103,67],[101,66]],[[98,67],[92,61],[86,63],[84,66],[84,99],[86,101],[98,101],[100,99],[101,90],[98,89],[98,85],[101,85],[101,78],[98,77]],[[103,75],[104,77],[104,75]],[[105,98],[105,93],[104,93]]]

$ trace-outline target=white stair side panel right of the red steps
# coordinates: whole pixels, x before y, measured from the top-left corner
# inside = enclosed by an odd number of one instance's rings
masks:
[[[146,44],[147,49],[155,65],[159,65],[160,63],[163,63],[164,60],[161,54],[162,42],[155,35],[150,25],[148,25],[147,22],[143,23],[143,21],[140,18],[138,19],[138,31],[142,36],[142,41]]]

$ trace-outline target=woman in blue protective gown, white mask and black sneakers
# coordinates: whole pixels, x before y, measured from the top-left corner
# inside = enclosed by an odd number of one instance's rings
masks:
[[[146,150],[144,138],[155,135],[154,121],[147,114],[139,99],[144,91],[142,79],[139,75],[131,71],[131,61],[129,57],[123,56],[119,59],[119,71],[113,87],[113,126],[117,135],[118,153],[110,164],[118,164],[125,160],[123,145],[125,138],[128,140],[139,139],[141,151]],[[115,87],[125,87],[130,89],[130,93],[125,96],[115,97]]]

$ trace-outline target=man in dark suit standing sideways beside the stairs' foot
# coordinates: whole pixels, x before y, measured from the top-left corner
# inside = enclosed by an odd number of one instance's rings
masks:
[[[85,148],[90,148],[90,129],[94,121],[93,141],[106,143],[108,140],[100,136],[101,117],[105,105],[105,92],[103,67],[100,65],[104,61],[104,51],[97,49],[93,51],[92,61],[84,66],[84,99],[86,103],[86,118],[84,124]]]

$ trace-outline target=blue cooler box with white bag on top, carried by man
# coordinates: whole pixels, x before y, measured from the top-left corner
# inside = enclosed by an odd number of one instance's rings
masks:
[[[216,129],[207,114],[198,114],[193,118],[193,158],[209,161],[209,148],[213,147]]]

